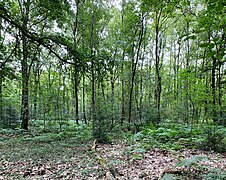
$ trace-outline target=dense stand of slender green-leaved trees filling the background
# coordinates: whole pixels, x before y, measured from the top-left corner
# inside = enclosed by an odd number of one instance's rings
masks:
[[[225,123],[223,2],[2,1],[0,18],[1,121],[12,107],[23,129],[74,120],[94,136]]]

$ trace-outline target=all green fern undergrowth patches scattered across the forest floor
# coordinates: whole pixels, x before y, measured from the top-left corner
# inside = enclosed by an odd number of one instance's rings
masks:
[[[37,123],[40,123],[37,121]],[[119,130],[120,126],[105,133],[111,140],[126,140],[124,155],[130,157],[131,162],[143,160],[143,155],[151,148],[162,148],[166,150],[183,150],[186,148],[201,148],[226,152],[226,129],[223,126],[191,126],[181,124],[162,123],[158,126],[150,124],[142,127],[142,131],[132,134]],[[42,123],[33,124],[29,131],[21,129],[0,129],[0,161],[26,161],[35,162],[71,161],[74,157],[74,150],[81,151],[87,155],[88,147],[92,142],[92,126],[74,123],[59,125],[52,122],[51,126],[44,126]],[[87,143],[88,142],[88,143]],[[63,155],[63,158],[62,158]],[[178,167],[186,167],[187,171],[183,176],[196,177],[189,173],[205,172],[205,167],[199,162],[205,160],[203,157],[191,157],[182,159]],[[195,169],[195,171],[193,171]],[[88,168],[83,169],[82,174],[90,174]],[[225,173],[219,174],[218,169],[211,169],[208,173],[202,174],[204,179],[225,178]],[[175,174],[165,174],[164,179],[177,179]]]

